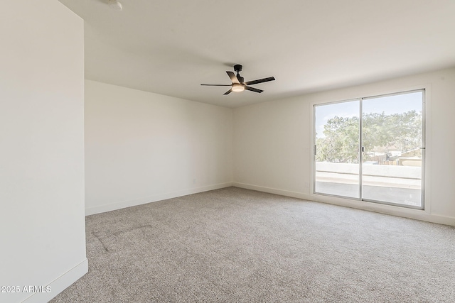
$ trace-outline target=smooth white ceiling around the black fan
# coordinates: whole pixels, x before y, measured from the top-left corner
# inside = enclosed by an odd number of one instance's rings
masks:
[[[85,77],[220,106],[455,66],[454,0],[60,0],[85,20]],[[226,75],[274,76],[223,96]]]

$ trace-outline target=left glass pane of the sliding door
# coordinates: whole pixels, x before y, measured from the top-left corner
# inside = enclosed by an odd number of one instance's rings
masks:
[[[315,192],[360,198],[360,101],[315,106]]]

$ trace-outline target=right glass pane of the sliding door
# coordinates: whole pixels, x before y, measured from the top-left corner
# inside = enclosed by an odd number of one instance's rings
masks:
[[[362,102],[362,198],[422,206],[423,92]]]

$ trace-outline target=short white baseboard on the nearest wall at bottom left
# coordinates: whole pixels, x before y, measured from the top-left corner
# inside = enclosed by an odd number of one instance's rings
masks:
[[[74,282],[80,279],[83,275],[88,272],[88,260],[85,259],[74,268],[68,270],[63,275],[58,277],[57,279],[50,282],[48,286],[50,286],[50,292],[35,292],[30,297],[23,300],[25,303],[43,303],[49,302],[50,299],[53,299],[63,292],[67,287],[72,285]]]

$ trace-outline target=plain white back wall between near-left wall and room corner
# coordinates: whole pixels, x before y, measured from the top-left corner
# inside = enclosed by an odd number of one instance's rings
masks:
[[[85,81],[86,214],[232,184],[232,109]]]

